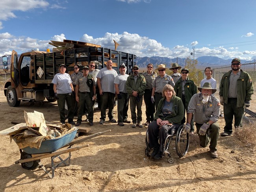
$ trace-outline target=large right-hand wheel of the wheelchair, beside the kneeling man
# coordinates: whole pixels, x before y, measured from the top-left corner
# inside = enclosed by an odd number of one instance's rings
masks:
[[[186,155],[189,147],[189,133],[185,133],[183,125],[178,128],[176,133],[175,148],[177,155],[181,158]]]

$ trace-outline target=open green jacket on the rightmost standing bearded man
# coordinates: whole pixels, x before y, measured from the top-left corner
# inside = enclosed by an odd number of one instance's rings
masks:
[[[241,70],[241,69],[240,69]],[[219,85],[219,96],[222,96],[224,103],[228,103],[229,77],[232,70],[225,73]],[[253,84],[250,75],[241,70],[240,77],[237,79],[237,103],[236,107],[243,107],[245,100],[252,100]]]

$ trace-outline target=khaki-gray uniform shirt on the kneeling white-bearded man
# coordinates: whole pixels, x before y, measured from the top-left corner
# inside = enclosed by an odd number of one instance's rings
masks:
[[[187,113],[193,113],[193,120],[198,124],[207,123],[209,120],[217,122],[221,106],[219,100],[213,96],[210,96],[206,104],[202,100],[202,93],[194,94],[188,104]]]

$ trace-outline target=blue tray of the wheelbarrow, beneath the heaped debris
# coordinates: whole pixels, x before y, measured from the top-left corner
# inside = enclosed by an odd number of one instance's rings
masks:
[[[28,154],[38,154],[38,153],[51,153],[57,151],[58,149],[62,148],[63,146],[69,144],[76,136],[78,128],[66,135],[63,135],[58,138],[54,139],[46,139],[42,141],[41,146],[39,149],[25,147],[22,150]]]

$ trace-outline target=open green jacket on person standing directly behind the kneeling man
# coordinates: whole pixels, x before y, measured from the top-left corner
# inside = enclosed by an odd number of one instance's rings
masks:
[[[194,81],[187,78],[186,84],[184,86],[185,90],[185,108],[187,109],[188,103],[191,97],[194,94],[197,94],[197,86],[195,85]],[[180,78],[174,85],[174,91],[176,92],[176,96],[182,99],[182,78]]]

